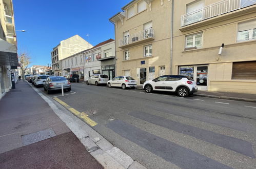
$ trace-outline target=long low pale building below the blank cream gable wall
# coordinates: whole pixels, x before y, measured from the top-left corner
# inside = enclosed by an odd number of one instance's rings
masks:
[[[89,50],[89,49],[87,49]],[[85,51],[87,51],[85,50]],[[78,74],[80,80],[84,79],[84,56],[85,51],[78,52],[74,55],[66,57],[61,60],[62,75],[67,76],[69,74]]]

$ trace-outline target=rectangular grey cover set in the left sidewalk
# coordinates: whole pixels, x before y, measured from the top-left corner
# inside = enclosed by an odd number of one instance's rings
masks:
[[[36,132],[36,133],[31,133],[31,134],[27,134],[27,135],[23,135],[22,136],[22,144],[23,145],[28,145],[28,144],[32,144],[38,141],[42,141],[45,140],[47,138],[51,138],[56,136],[56,134],[54,133],[54,131],[51,129],[46,129],[40,132]]]

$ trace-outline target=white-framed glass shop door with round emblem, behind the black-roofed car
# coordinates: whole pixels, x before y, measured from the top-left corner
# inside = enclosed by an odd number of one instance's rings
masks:
[[[199,90],[207,90],[207,79],[208,79],[208,66],[195,66],[196,67],[196,85]]]

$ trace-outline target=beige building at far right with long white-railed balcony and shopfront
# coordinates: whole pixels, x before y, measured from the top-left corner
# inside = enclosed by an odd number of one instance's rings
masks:
[[[256,94],[255,11],[249,0],[174,1],[173,73],[200,90]]]

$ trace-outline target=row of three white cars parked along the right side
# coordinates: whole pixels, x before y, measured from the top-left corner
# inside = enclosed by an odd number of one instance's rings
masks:
[[[95,74],[86,79],[87,85],[107,85],[107,87],[136,88],[136,80],[130,76],[117,76],[109,80],[107,75]],[[195,81],[183,75],[164,75],[145,81],[143,89],[147,93],[153,91],[176,92],[180,97],[186,97],[198,90]]]

